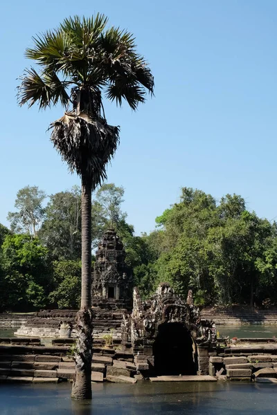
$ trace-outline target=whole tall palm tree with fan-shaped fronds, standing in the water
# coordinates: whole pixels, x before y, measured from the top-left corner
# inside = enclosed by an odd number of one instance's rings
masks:
[[[82,302],[73,398],[91,398],[91,192],[107,177],[106,165],[118,146],[119,129],[107,124],[103,97],[133,110],[153,93],[148,63],[136,52],[134,36],[106,28],[107,17],[69,17],[55,29],[33,37],[26,57],[31,67],[20,77],[19,104],[39,109],[62,104],[62,118],[51,124],[51,140],[71,172],[82,181]]]

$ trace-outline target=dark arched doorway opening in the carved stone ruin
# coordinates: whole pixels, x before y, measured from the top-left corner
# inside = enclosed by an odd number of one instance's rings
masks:
[[[154,371],[157,375],[196,375],[193,340],[181,323],[163,323],[153,344]]]

